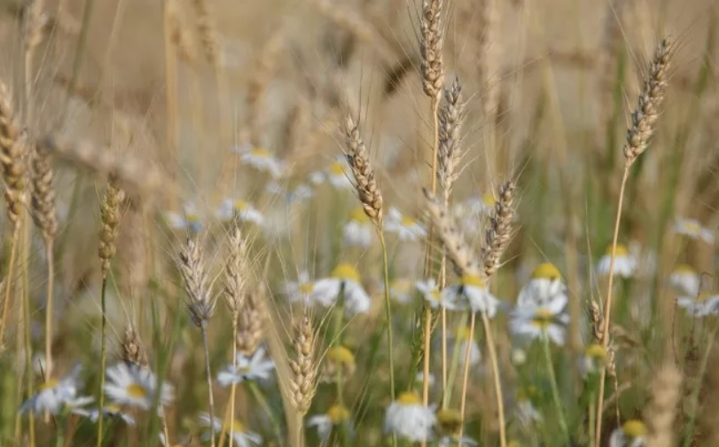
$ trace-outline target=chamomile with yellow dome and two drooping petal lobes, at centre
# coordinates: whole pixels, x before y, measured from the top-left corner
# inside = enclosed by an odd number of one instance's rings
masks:
[[[315,282],[315,290],[310,299],[324,307],[331,307],[340,298],[340,294],[348,316],[370,311],[370,295],[360,284],[359,273],[348,263],[338,265],[330,278]]]

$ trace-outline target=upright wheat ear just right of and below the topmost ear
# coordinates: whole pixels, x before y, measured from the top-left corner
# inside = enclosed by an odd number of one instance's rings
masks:
[[[464,121],[465,104],[462,102],[462,84],[459,79],[452,82],[449,89],[444,90],[444,103],[439,112],[439,169],[437,179],[444,192],[444,203],[449,203],[452,186],[461,173],[459,163],[462,161],[460,130]]]

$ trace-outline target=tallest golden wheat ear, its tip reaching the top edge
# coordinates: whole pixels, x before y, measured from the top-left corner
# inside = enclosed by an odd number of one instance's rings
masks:
[[[428,97],[435,99],[440,98],[444,87],[442,3],[442,0],[423,0],[419,22],[422,89]]]

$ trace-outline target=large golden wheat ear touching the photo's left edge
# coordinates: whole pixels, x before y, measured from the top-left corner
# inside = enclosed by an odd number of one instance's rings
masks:
[[[21,140],[20,127],[12,106],[12,93],[7,85],[0,81],[0,163],[3,165],[8,218],[13,227],[18,226],[25,191],[23,157],[26,148]]]

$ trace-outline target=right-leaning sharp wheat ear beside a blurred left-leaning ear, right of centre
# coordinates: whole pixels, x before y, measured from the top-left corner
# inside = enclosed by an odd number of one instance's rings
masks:
[[[499,269],[499,261],[512,239],[514,182],[509,181],[500,185],[498,192],[499,197],[495,202],[494,215],[489,219],[489,226],[485,231],[485,246],[481,251],[486,278],[490,278]]]

